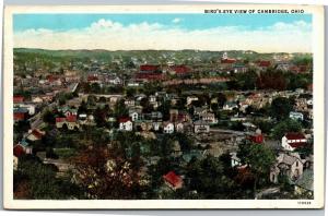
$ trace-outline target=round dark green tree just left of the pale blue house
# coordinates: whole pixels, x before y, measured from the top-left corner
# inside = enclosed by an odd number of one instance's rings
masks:
[[[289,115],[292,110],[293,105],[286,97],[277,97],[271,103],[270,113],[277,120],[289,118]]]

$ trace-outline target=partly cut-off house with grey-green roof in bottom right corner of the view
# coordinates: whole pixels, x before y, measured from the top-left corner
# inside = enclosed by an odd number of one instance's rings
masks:
[[[313,181],[314,181],[313,170],[312,169],[304,170],[303,175],[294,183],[295,194],[300,194],[300,195],[306,194],[313,196],[314,193]]]

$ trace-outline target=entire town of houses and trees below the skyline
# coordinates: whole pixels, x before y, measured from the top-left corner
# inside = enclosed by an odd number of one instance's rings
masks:
[[[14,49],[14,197],[313,199],[311,53]]]

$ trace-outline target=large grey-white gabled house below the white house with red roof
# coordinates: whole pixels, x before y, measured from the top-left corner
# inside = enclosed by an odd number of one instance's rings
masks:
[[[280,153],[270,170],[270,181],[279,182],[279,177],[285,176],[290,181],[297,180],[303,173],[303,161],[297,153]]]

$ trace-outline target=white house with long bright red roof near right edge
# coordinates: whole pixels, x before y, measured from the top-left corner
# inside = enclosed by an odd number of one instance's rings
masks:
[[[281,139],[281,145],[285,151],[294,151],[297,147],[302,147],[306,144],[307,140],[302,133],[286,133]]]

